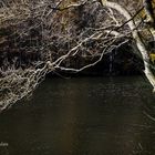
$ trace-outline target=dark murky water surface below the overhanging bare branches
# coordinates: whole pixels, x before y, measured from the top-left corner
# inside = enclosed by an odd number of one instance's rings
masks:
[[[0,155],[155,155],[151,91],[140,76],[46,80],[0,114]]]

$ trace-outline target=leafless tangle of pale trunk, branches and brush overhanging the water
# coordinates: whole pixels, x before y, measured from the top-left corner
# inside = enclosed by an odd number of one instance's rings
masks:
[[[154,28],[146,28],[143,10],[141,1],[130,0],[1,1],[0,110],[30,95],[49,72],[80,72],[126,42],[137,46],[155,89],[147,45],[154,40]],[[81,62],[85,58],[91,61]]]

